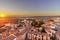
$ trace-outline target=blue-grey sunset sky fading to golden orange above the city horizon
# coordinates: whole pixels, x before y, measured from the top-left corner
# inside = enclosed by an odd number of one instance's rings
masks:
[[[60,0],[0,0],[0,14],[59,16]]]

